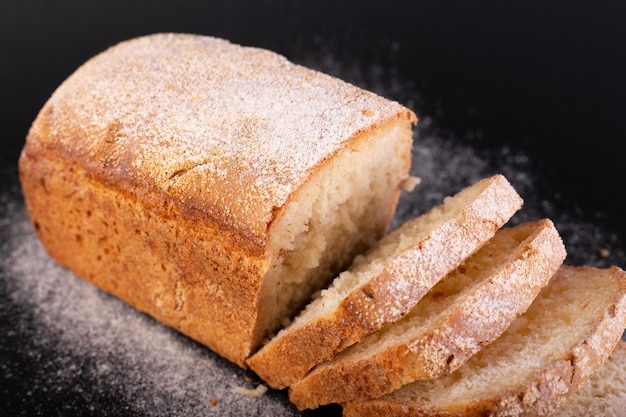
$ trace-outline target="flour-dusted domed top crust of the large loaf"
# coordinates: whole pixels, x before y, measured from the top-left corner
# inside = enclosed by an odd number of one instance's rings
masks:
[[[28,142],[154,205],[171,199],[258,249],[275,210],[317,166],[395,119],[416,121],[394,101],[276,53],[162,33],[82,65]]]

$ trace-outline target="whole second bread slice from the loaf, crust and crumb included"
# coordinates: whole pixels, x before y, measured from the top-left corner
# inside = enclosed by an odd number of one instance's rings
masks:
[[[404,318],[291,385],[290,400],[300,410],[366,400],[456,370],[526,311],[565,256],[548,219],[500,229]]]

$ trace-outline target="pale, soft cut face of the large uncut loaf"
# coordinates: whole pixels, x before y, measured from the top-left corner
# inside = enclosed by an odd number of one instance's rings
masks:
[[[261,291],[258,344],[386,231],[408,178],[411,144],[409,122],[364,134],[287,203],[275,224],[273,262]]]

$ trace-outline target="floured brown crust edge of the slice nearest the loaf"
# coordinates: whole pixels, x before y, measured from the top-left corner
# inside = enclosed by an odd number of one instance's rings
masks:
[[[506,178],[479,181],[480,195],[454,219],[396,259],[366,285],[352,290],[337,309],[314,321],[287,329],[254,354],[250,367],[271,387],[282,389],[315,365],[385,323],[398,320],[443,276],[491,238],[521,207]]]

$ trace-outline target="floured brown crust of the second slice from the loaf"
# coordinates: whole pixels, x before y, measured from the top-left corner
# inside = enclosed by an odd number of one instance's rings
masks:
[[[505,263],[494,265],[488,279],[464,294],[454,309],[445,309],[446,315],[438,316],[424,331],[407,330],[407,336],[369,356],[352,354],[357,345],[344,350],[294,383],[289,389],[290,400],[303,410],[378,397],[415,380],[452,372],[498,337],[528,308],[566,256],[563,242],[548,219],[498,233],[526,237],[507,254]],[[481,249],[489,255],[482,255],[481,261],[470,258],[460,268],[484,268],[480,262],[504,250],[495,243],[498,236]],[[436,294],[438,288],[434,287],[429,295]],[[441,296],[433,297],[439,300]]]

